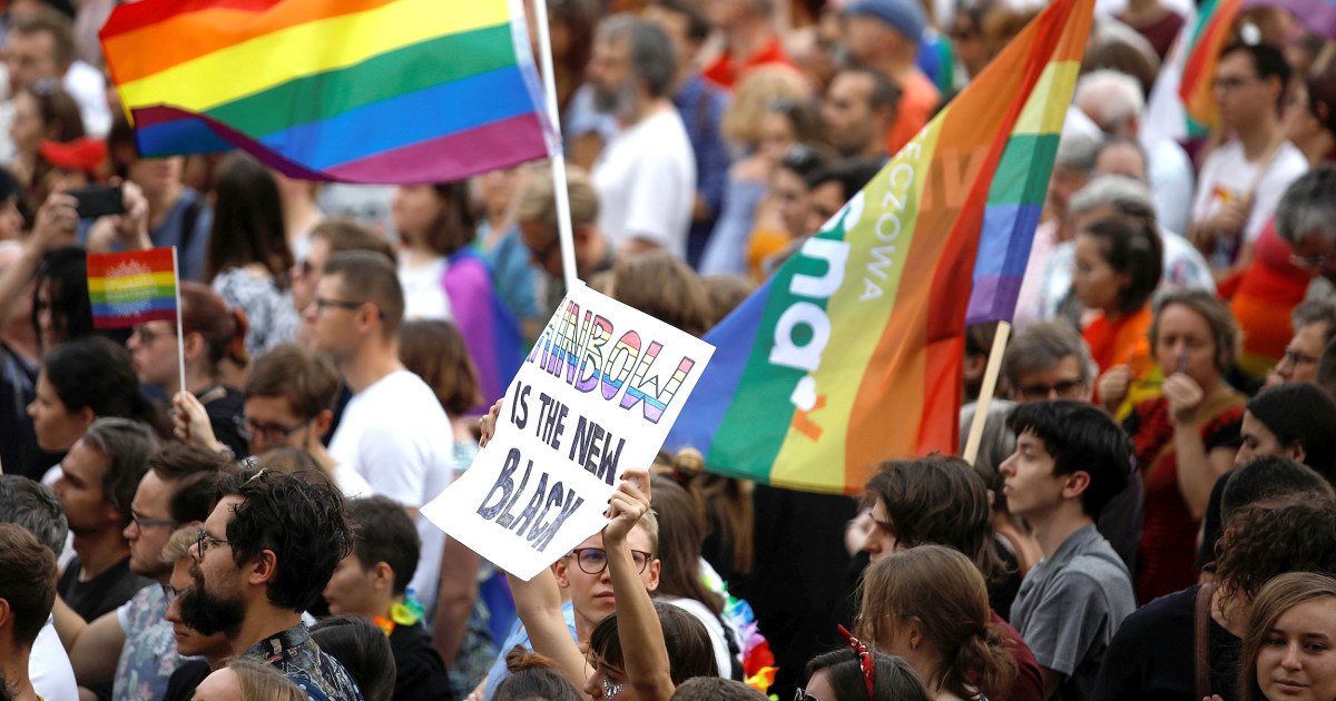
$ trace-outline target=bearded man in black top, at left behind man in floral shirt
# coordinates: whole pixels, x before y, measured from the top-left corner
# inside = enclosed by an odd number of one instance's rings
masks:
[[[55,491],[77,557],[65,566],[56,592],[86,621],[115,610],[148,583],[130,569],[123,531],[155,450],[158,439],[143,423],[106,418],[95,421],[60,462]]]

